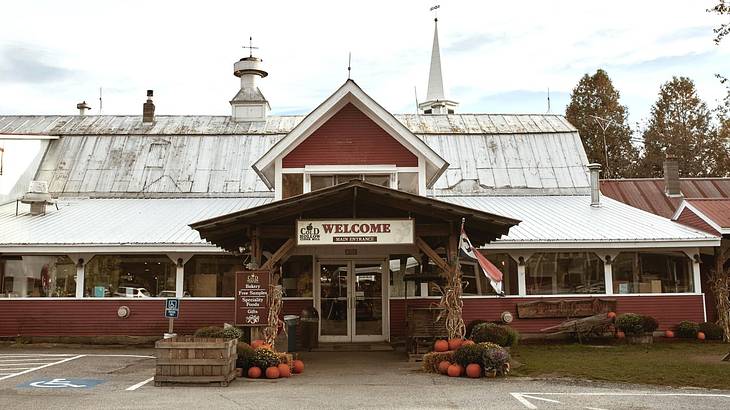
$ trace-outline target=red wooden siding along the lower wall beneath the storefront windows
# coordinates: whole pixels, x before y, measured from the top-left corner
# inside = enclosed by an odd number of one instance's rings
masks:
[[[606,298],[612,298],[606,296]],[[576,299],[576,298],[568,298]],[[620,296],[618,313],[635,312],[654,316],[660,330],[682,320],[703,321],[701,295]],[[498,320],[504,311],[517,317],[516,304],[537,298],[464,299],[464,320]],[[545,300],[545,299],[542,299]],[[550,299],[548,299],[550,300]],[[408,306],[428,307],[434,299],[409,299]],[[4,300],[0,301],[0,336],[154,336],[167,331],[164,300]],[[128,306],[130,317],[117,317],[117,308]],[[311,300],[284,301],[283,314],[299,314]],[[513,326],[523,333],[559,323],[560,319],[515,319]],[[183,299],[175,331],[191,334],[195,329],[233,323],[233,300]],[[390,301],[391,336],[405,335],[405,305]]]

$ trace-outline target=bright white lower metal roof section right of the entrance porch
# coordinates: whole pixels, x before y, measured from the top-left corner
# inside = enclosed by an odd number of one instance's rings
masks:
[[[510,229],[509,235],[486,248],[514,244],[534,246],[536,243],[574,244],[580,248],[589,248],[591,243],[599,248],[669,246],[678,242],[698,243],[695,246],[716,246],[709,245],[708,241],[719,244],[716,236],[606,197],[601,198],[600,207],[590,206],[590,196],[451,196],[440,199],[521,221]],[[466,230],[468,233],[468,222]]]

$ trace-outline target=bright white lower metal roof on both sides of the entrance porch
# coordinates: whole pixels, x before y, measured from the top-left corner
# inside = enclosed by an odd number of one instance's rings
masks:
[[[486,248],[637,248],[717,246],[719,238],[648,212],[587,196],[446,196],[436,199],[520,220]],[[31,216],[26,205],[0,206],[0,248],[17,245],[195,245],[188,224],[250,209],[271,198],[68,199]],[[467,218],[467,232],[469,221]],[[212,245],[208,248],[215,249]]]

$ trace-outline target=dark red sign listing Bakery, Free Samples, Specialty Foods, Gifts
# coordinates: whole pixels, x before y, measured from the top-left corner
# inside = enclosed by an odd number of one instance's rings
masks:
[[[236,272],[236,326],[268,326],[269,272]]]

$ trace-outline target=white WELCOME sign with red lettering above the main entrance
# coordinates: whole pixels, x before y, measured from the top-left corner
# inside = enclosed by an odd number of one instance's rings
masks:
[[[412,219],[317,219],[297,221],[297,245],[411,245]]]

